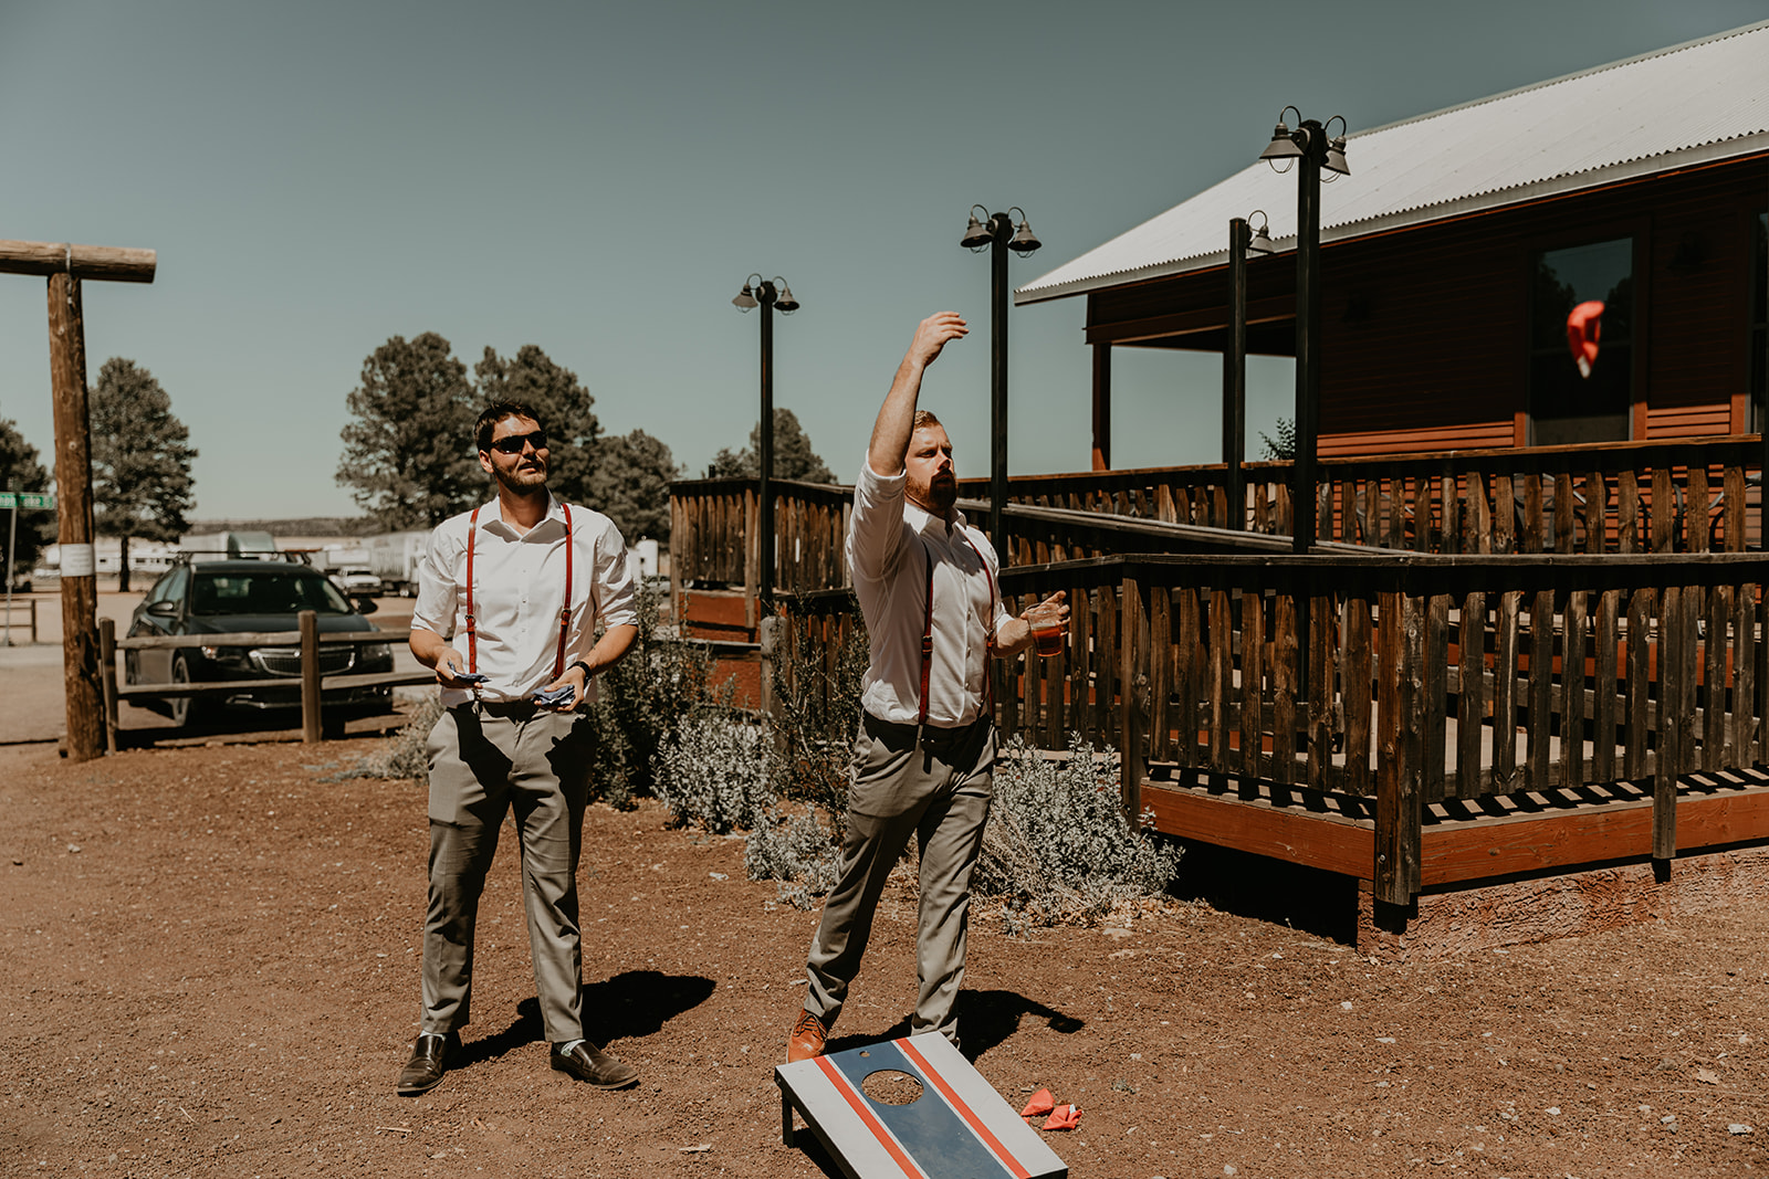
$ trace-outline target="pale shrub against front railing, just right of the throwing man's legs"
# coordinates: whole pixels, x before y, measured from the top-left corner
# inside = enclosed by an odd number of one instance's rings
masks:
[[[1017,737],[1001,751],[971,891],[1003,900],[1010,926],[1093,921],[1120,901],[1159,894],[1178,863],[1176,848],[1130,825],[1113,764],[1079,735],[1063,760]]]

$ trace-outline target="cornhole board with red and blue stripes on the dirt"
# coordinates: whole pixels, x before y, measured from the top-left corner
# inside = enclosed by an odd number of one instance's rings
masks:
[[[867,1076],[922,1082],[909,1105],[874,1101]],[[849,1179],[1067,1179],[1068,1167],[939,1032],[888,1039],[775,1068],[780,1140],[793,1114]]]

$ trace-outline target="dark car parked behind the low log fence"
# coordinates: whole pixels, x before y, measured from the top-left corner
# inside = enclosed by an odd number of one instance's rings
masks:
[[[363,617],[375,603],[356,605],[311,566],[285,560],[205,560],[173,566],[134,608],[129,636],[230,635],[299,629],[299,613],[313,610],[320,633],[371,631]],[[347,675],[393,670],[389,643],[320,643],[320,673]],[[297,645],[203,645],[127,650],[131,684],[205,684],[239,681],[237,693],[149,700],[147,707],[180,726],[219,709],[299,709],[301,649]],[[384,712],[391,688],[350,688],[325,695],[327,718]]]

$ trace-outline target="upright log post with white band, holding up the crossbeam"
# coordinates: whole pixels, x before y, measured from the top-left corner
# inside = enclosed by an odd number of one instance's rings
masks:
[[[104,686],[99,673],[99,589],[92,551],[92,442],[87,417],[87,338],[80,279],[50,276],[50,384],[55,398],[55,490],[62,548],[62,681],[67,757],[104,753]]]

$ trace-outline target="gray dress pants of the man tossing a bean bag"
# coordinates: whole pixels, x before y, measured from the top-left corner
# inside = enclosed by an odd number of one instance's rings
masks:
[[[872,914],[913,834],[922,850],[915,965],[920,981],[911,1032],[957,1041],[953,1006],[964,983],[971,870],[989,822],[994,725],[892,725],[862,714],[847,794],[842,870],[810,942],[805,1009],[831,1025],[872,935]]]

